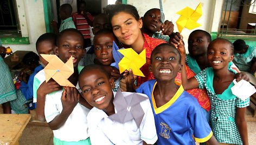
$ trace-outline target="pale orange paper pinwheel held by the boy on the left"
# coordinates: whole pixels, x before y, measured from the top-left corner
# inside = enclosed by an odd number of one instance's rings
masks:
[[[68,78],[74,73],[72,56],[66,63],[63,63],[56,55],[44,55],[41,56],[49,62],[43,69],[46,75],[46,82],[53,78],[61,86],[75,87]]]

